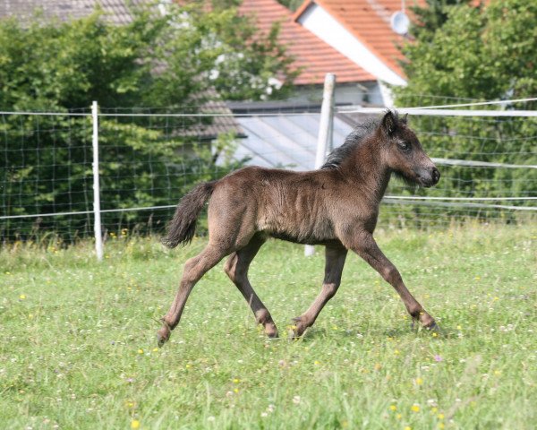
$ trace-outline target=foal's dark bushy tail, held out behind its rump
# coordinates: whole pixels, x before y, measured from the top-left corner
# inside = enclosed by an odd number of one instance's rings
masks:
[[[187,245],[192,241],[196,223],[205,202],[209,200],[217,181],[197,185],[177,205],[174,218],[167,225],[167,235],[162,243],[169,248],[179,244]]]

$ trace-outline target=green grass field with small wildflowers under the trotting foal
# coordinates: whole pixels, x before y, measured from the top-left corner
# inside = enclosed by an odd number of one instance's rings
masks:
[[[349,255],[302,340],[267,340],[222,263],[156,347],[183,262],[153,238],[0,253],[2,428],[530,429],[537,422],[537,226],[379,231],[444,334],[412,331]],[[320,291],[321,250],[270,242],[251,282],[280,334]]]

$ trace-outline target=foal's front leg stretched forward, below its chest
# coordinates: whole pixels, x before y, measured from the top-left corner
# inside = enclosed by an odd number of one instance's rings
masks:
[[[427,329],[435,329],[437,327],[434,318],[425,312],[422,305],[408,291],[396,266],[382,254],[379,245],[377,245],[371,233],[362,232],[361,235],[355,237],[354,243],[350,247],[363,260],[368,262],[373,269],[378,271],[380,276],[388,284],[396,288],[397,294],[403,300],[406,310],[412,315],[414,320],[422,323],[422,326]]]

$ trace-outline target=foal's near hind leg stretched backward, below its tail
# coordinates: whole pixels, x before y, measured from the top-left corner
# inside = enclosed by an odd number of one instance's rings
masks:
[[[197,256],[184,263],[183,278],[175,295],[174,303],[165,317],[162,319],[163,326],[157,333],[158,346],[162,346],[169,339],[171,331],[181,320],[184,304],[190,295],[192,288],[201,277],[214,267],[217,262],[226,256],[226,250],[215,245],[207,245]]]

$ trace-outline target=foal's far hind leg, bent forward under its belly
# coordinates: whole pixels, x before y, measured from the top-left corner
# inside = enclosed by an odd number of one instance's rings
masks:
[[[260,297],[251,288],[250,280],[248,280],[248,268],[255,255],[260,250],[261,245],[265,243],[265,238],[256,235],[253,236],[248,243],[242,249],[235,251],[229,256],[224,266],[227,276],[233,281],[235,286],[239,288],[239,291],[243,294],[248,304],[251,307],[251,311],[255,315],[255,319],[258,323],[262,324],[265,328],[265,333],[269,338],[277,338],[277,327],[272,316],[268,312],[267,306],[263,305]]]

